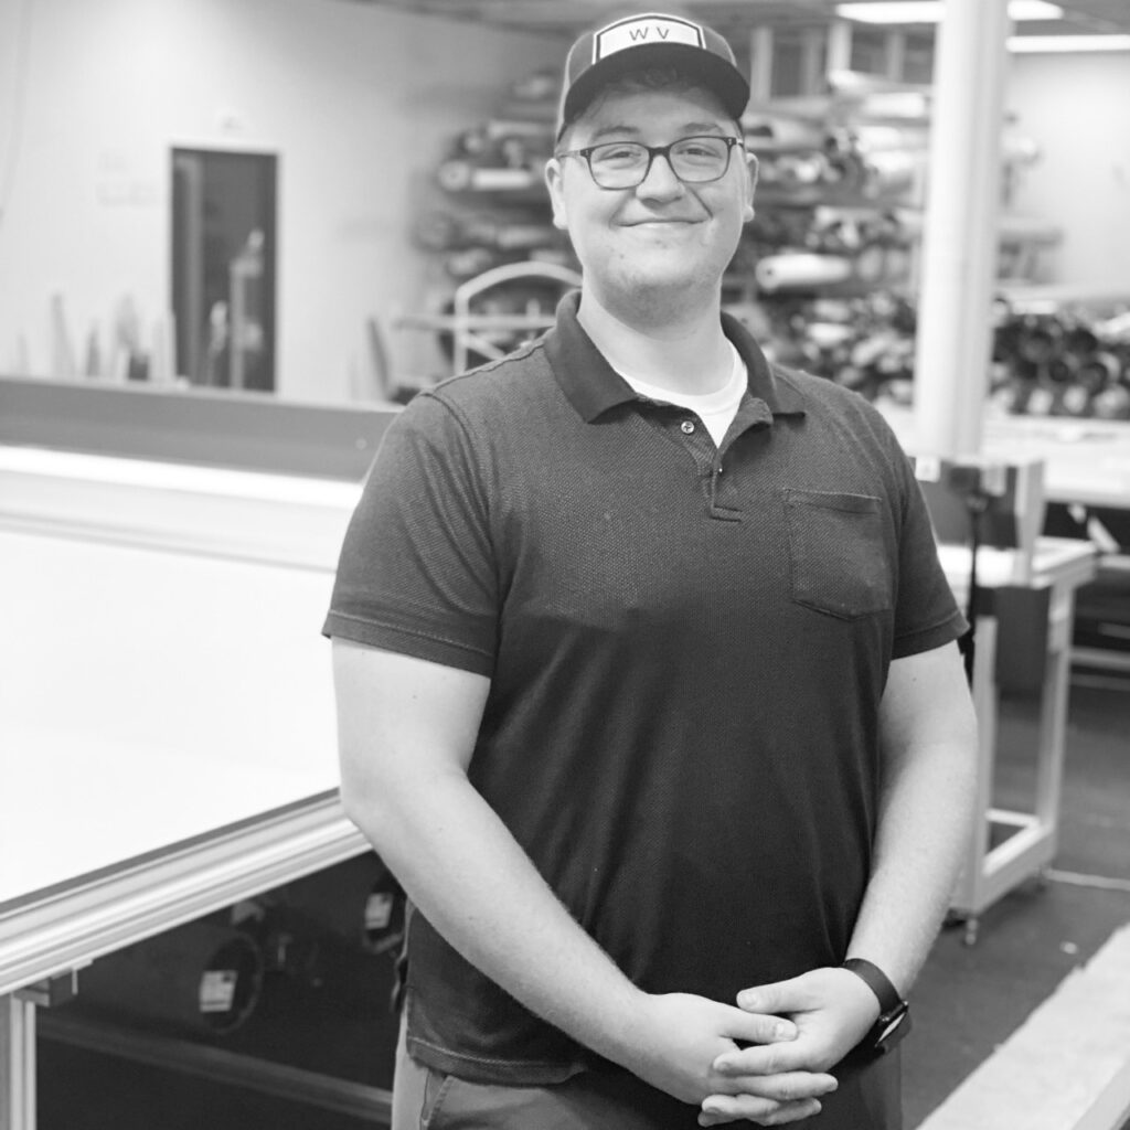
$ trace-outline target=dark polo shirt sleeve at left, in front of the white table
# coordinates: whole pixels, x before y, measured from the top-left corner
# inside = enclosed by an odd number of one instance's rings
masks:
[[[469,429],[440,398],[417,395],[365,479],[323,634],[489,676],[498,616],[488,518]]]

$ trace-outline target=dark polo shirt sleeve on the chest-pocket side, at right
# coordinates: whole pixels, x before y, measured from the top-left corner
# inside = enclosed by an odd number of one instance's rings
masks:
[[[888,433],[902,498],[898,539],[898,599],[895,606],[894,659],[940,647],[964,634],[965,618],[938,559],[922,488],[905,452]]]

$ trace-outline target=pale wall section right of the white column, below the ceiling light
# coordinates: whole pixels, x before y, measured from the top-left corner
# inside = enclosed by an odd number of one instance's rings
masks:
[[[1015,55],[1007,104],[1041,149],[1014,210],[1063,232],[1042,281],[1130,298],[1130,52]]]

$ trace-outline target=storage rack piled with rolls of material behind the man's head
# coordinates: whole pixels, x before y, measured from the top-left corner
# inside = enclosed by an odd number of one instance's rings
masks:
[[[507,92],[497,114],[457,136],[436,182],[446,210],[415,225],[417,243],[453,278],[450,311],[401,318],[401,328],[455,333],[453,371],[467,318],[496,342],[522,330],[524,312],[454,308],[485,295],[489,272],[521,261],[576,270],[549,223],[542,165],[553,150],[554,80],[532,76]],[[754,103],[742,121],[759,160],[757,212],[724,280],[728,308],[755,323],[768,351],[858,388],[906,400],[913,375],[914,293],[930,121],[929,88],[849,71],[829,72],[828,93]],[[525,97],[518,97],[523,92]],[[1007,148],[1015,173],[1031,158],[1023,138]],[[1006,216],[1000,257],[1010,277],[1029,273],[1053,244],[1049,224]],[[483,285],[469,277],[481,272]],[[530,271],[530,280],[537,277]],[[515,272],[513,279],[521,278]],[[520,292],[514,292],[520,294]],[[498,319],[502,318],[502,321]],[[505,320],[515,319],[513,327]],[[540,324],[540,323],[539,323]],[[478,351],[477,356],[494,356]]]

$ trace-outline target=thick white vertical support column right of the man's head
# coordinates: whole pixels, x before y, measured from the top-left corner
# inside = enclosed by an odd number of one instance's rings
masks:
[[[1008,32],[1007,0],[947,0],[938,27],[914,376],[921,454],[981,445]]]

